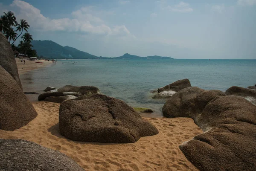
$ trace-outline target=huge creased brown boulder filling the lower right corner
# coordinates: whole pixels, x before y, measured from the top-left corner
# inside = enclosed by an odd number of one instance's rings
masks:
[[[241,97],[209,102],[199,119],[205,131],[180,145],[200,171],[255,171],[256,106]]]

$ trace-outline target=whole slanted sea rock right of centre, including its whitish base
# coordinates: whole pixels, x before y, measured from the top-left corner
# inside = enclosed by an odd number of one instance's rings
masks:
[[[172,84],[161,87],[157,90],[157,94],[153,96],[153,99],[166,99],[174,95],[176,92],[191,87],[189,79],[183,79],[175,81]]]

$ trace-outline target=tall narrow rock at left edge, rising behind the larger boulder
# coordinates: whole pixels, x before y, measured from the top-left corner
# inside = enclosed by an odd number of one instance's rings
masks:
[[[12,46],[2,32],[0,32],[0,66],[12,75],[12,78],[22,89]]]

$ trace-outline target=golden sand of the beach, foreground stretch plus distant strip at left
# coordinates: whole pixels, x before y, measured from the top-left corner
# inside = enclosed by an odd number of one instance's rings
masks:
[[[20,64],[19,64],[20,63]],[[27,61],[26,67],[17,61],[19,73],[46,67]],[[23,69],[22,69],[23,67]],[[23,80],[21,80],[22,82]],[[196,171],[180,151],[179,145],[202,133],[190,118],[145,118],[159,133],[142,137],[135,143],[76,142],[61,136],[58,127],[58,103],[33,102],[38,116],[14,131],[0,130],[2,139],[26,139],[60,151],[89,171]]]

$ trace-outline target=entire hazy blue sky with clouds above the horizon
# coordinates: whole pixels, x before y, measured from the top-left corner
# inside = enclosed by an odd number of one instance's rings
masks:
[[[96,56],[256,59],[256,0],[1,0],[34,40]]]

